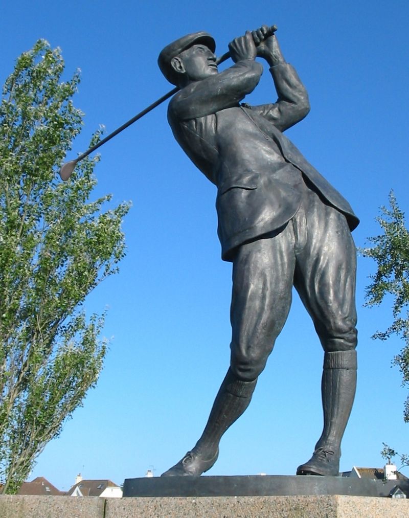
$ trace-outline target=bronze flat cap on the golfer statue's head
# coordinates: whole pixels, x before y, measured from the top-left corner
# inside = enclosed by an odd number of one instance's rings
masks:
[[[169,45],[167,45],[162,52],[160,52],[158,57],[158,65],[162,74],[166,77],[166,79],[172,83],[177,84],[177,72],[173,70],[170,62],[173,57],[176,57],[184,50],[192,47],[193,45],[203,44],[206,47],[214,52],[216,49],[216,44],[214,39],[210,36],[209,33],[204,31],[199,31],[197,33],[187,34],[186,36],[182,36],[182,38],[177,39],[176,41],[172,41]]]

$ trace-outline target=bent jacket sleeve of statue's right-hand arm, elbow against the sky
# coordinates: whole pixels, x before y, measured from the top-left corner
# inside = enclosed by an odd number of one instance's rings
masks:
[[[309,113],[310,101],[295,68],[289,63],[274,65],[270,72],[278,95],[277,101],[251,108],[283,132]]]

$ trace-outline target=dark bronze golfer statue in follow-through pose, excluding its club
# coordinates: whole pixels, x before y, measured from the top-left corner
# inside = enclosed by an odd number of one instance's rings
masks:
[[[233,264],[231,359],[195,447],[163,476],[198,476],[216,462],[222,435],[250,403],[287,319],[295,286],[324,349],[323,433],[297,474],[336,476],[356,387],[356,250],[348,202],[283,132],[310,110],[308,94],[267,26],[234,39],[219,72],[214,39],[188,34],[159,67],[181,90],[168,120],[179,145],[216,185],[222,258]],[[269,65],[278,99],[241,104]],[[308,344],[301,344],[308,347]]]

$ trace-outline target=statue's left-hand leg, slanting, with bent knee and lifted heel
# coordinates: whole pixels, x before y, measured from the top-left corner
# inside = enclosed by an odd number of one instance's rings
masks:
[[[163,476],[197,476],[216,462],[225,431],[249,406],[291,303],[294,276],[291,225],[266,239],[240,247],[233,262],[230,368],[209,420],[192,451]]]

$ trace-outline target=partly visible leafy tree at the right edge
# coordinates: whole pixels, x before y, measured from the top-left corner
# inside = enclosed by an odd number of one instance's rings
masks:
[[[402,373],[402,385],[409,385],[409,231],[405,215],[400,210],[395,195],[389,194],[390,207],[381,207],[376,221],[383,233],[369,238],[372,247],[361,250],[372,257],[377,265],[376,274],[367,286],[367,305],[379,305],[386,295],[393,297],[392,324],[385,331],[377,331],[372,338],[387,340],[392,335],[403,339],[404,346],[392,364]],[[404,405],[405,422],[409,422],[409,396]]]

